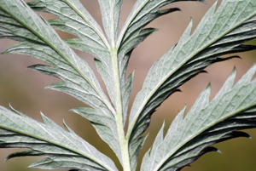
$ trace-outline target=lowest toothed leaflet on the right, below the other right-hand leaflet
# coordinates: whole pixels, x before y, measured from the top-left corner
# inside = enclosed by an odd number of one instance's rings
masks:
[[[254,65],[233,87],[236,70],[209,103],[208,86],[195,101],[186,117],[180,111],[163,137],[164,126],[154,140],[154,145],[143,157],[141,170],[180,170],[209,151],[215,143],[236,137],[250,137],[236,130],[255,128],[256,71]]]

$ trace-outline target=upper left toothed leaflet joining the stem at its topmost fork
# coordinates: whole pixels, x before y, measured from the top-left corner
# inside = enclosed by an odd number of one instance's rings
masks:
[[[113,88],[113,64],[111,48],[102,29],[91,17],[79,0],[37,0],[28,5],[36,11],[55,14],[60,19],[49,20],[55,29],[69,32],[79,38],[67,39],[65,42],[79,50],[96,57],[97,70],[101,73],[108,94],[116,105],[115,88]],[[111,23],[109,23],[111,24]]]

